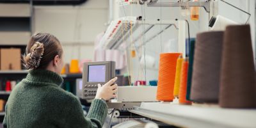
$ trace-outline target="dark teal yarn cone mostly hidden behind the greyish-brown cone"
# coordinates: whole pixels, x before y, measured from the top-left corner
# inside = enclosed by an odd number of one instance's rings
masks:
[[[186,99],[190,99],[191,92],[191,83],[192,83],[192,72],[193,72],[193,61],[194,61],[194,52],[195,52],[195,40],[191,40],[189,44],[189,54],[188,54],[188,82],[187,82],[187,95]]]

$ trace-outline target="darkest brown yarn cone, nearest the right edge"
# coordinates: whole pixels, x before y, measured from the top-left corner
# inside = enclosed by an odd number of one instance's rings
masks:
[[[256,108],[250,26],[228,26],[223,41],[220,106]]]

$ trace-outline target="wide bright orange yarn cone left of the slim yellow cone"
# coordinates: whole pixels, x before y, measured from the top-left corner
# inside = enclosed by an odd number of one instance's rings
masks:
[[[170,102],[173,100],[173,88],[177,59],[180,53],[162,53],[159,60],[159,76],[157,83],[157,100]]]

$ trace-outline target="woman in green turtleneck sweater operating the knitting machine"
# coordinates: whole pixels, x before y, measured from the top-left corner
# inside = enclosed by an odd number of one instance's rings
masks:
[[[31,37],[23,57],[29,74],[12,90],[6,103],[4,127],[102,127],[107,115],[106,100],[116,95],[116,77],[98,85],[88,115],[72,93],[60,88],[63,49],[59,40],[48,33]]]

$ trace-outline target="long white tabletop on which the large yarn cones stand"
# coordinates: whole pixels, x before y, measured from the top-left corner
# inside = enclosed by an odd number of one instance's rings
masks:
[[[179,127],[256,127],[256,109],[224,109],[216,106],[143,102],[131,112]]]

